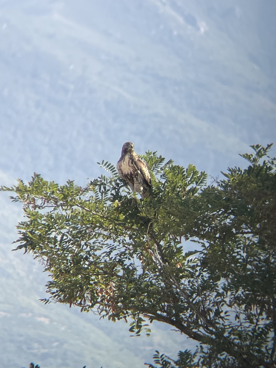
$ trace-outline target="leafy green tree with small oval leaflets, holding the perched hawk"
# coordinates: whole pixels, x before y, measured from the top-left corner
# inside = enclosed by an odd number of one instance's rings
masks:
[[[23,205],[16,249],[32,253],[51,275],[43,301],[112,321],[130,318],[135,335],[149,334],[148,322],[169,323],[199,342],[176,361],[156,352],[158,367],[275,367],[271,146],[251,146],[254,154],[241,155],[247,169],[228,169],[210,185],[194,165],[185,169],[147,152],[153,188],[144,200],[104,161],[110,176],[84,188],[38,174],[1,187]],[[197,250],[185,252],[188,240]]]

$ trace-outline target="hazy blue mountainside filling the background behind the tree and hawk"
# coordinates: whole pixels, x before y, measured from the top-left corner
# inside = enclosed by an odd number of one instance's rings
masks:
[[[0,1],[0,184],[37,172],[85,185],[125,141],[210,176],[245,167],[238,153],[275,142],[275,11],[273,0]],[[141,367],[155,348],[192,346],[162,325],[132,342],[127,325],[40,303],[47,275],[11,252],[22,210],[0,201],[2,365],[107,367],[107,349],[113,367]]]

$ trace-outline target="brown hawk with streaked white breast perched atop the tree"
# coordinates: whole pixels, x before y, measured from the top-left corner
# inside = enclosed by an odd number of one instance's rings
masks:
[[[148,165],[136,155],[133,147],[134,144],[131,142],[124,143],[120,160],[117,162],[117,170],[132,191],[138,192],[142,198],[148,198],[151,189]]]

